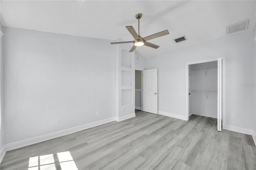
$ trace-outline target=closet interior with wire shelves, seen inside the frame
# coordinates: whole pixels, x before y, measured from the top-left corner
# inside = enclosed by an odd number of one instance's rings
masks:
[[[218,117],[218,61],[189,65],[189,115]]]

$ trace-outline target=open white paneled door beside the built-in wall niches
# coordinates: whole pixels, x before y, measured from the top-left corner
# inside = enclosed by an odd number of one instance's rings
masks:
[[[144,112],[157,114],[157,69],[143,70],[143,106]]]

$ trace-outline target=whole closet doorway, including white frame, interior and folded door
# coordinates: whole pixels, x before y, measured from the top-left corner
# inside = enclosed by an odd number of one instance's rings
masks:
[[[186,63],[186,117],[217,118],[222,129],[222,58]]]

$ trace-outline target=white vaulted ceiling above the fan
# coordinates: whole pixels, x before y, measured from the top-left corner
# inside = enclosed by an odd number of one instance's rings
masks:
[[[1,0],[3,26],[43,32],[132,41],[125,26],[138,30],[142,13],[142,37],[168,29],[169,35],[149,40],[158,49],[137,47],[142,57],[159,55],[226,35],[226,26],[249,19],[254,29],[256,1],[13,1]],[[235,33],[238,34],[238,33]],[[173,39],[188,40],[175,43]],[[230,36],[230,35],[228,35]]]

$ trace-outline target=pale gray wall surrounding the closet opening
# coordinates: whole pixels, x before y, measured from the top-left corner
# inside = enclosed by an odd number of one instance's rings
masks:
[[[255,86],[243,86],[256,79],[254,37],[245,32],[146,58],[146,69],[158,69],[158,110],[185,116],[185,63],[226,57],[226,124],[254,130]]]

